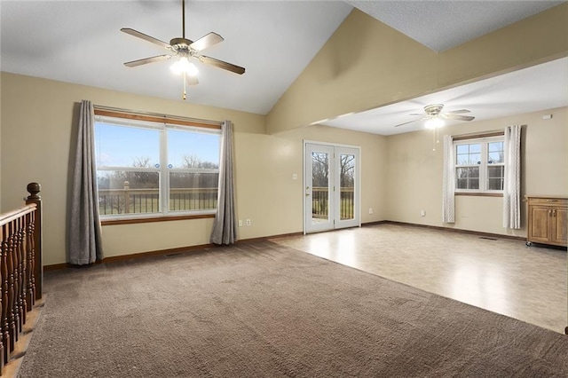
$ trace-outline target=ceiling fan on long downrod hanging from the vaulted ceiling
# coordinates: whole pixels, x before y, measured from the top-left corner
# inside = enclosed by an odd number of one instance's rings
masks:
[[[150,58],[132,60],[130,62],[124,63],[126,67],[138,67],[148,63],[154,63],[157,61],[177,58],[177,61],[171,66],[171,70],[176,74],[184,75],[184,99],[185,99],[185,83],[189,85],[195,85],[199,83],[197,80],[197,67],[190,62],[190,59],[197,59],[201,63],[209,64],[214,67],[222,68],[227,71],[231,71],[235,74],[242,75],[245,73],[245,68],[233,65],[232,63],[227,63],[223,60],[211,58],[205,55],[201,55],[200,51],[207,49],[208,47],[223,42],[224,38],[217,33],[210,32],[207,35],[203,35],[197,41],[191,41],[185,38],[185,0],[181,0],[181,18],[182,18],[182,36],[177,38],[172,38],[170,43],[165,43],[153,36],[140,33],[138,30],[132,28],[121,28],[121,31],[136,36],[147,42],[157,44],[170,51],[170,54],[157,55]]]

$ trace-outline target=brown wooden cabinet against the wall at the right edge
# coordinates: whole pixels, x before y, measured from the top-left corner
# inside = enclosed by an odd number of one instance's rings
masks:
[[[568,245],[568,197],[526,196],[526,245]]]

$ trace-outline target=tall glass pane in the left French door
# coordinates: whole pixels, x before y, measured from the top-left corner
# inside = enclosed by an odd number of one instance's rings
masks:
[[[329,222],[329,154],[312,152],[312,224]]]

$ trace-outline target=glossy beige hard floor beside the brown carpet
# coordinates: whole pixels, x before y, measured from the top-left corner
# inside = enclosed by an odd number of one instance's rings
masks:
[[[272,241],[564,334],[566,250],[400,224]]]

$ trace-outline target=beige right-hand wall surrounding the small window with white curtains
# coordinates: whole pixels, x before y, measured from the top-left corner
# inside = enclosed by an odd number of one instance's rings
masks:
[[[524,125],[522,139],[523,185],[525,194],[568,194],[568,119],[567,108],[518,114],[489,121],[461,123],[442,129],[458,136],[471,132],[503,130],[512,124]],[[543,120],[543,114],[553,114]],[[525,237],[523,228],[511,231],[502,227],[502,198],[456,196],[455,224],[442,219],[442,147],[432,151],[430,130],[398,134],[387,138],[387,211],[386,219],[413,224],[449,226],[461,230],[510,234]],[[426,210],[426,217],[420,210]]]

